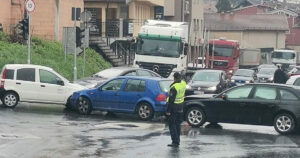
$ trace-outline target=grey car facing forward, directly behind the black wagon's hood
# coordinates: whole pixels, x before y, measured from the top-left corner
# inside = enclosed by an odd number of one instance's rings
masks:
[[[187,84],[186,95],[220,93],[227,85],[225,71],[198,70]]]

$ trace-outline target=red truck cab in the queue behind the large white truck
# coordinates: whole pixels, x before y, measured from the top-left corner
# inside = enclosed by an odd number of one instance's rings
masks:
[[[240,46],[235,40],[214,39],[209,41],[205,63],[207,68],[224,70],[232,76],[239,68]]]

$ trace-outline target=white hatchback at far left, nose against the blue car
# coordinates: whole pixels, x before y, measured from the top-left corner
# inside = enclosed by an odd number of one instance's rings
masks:
[[[1,72],[0,97],[6,107],[18,102],[69,105],[73,92],[85,87],[70,83],[52,68],[30,64],[8,64]]]

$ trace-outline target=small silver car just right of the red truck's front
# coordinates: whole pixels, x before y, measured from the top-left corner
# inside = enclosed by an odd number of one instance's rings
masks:
[[[236,85],[242,85],[245,83],[253,83],[257,79],[254,70],[250,69],[238,69],[231,77],[231,82]]]

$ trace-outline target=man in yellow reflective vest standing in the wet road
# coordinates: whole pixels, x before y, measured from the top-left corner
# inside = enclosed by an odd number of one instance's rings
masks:
[[[166,111],[172,139],[172,144],[168,144],[168,146],[178,147],[180,145],[180,132],[186,82],[182,80],[182,77],[178,72],[175,72],[173,77],[174,82],[170,86]]]

